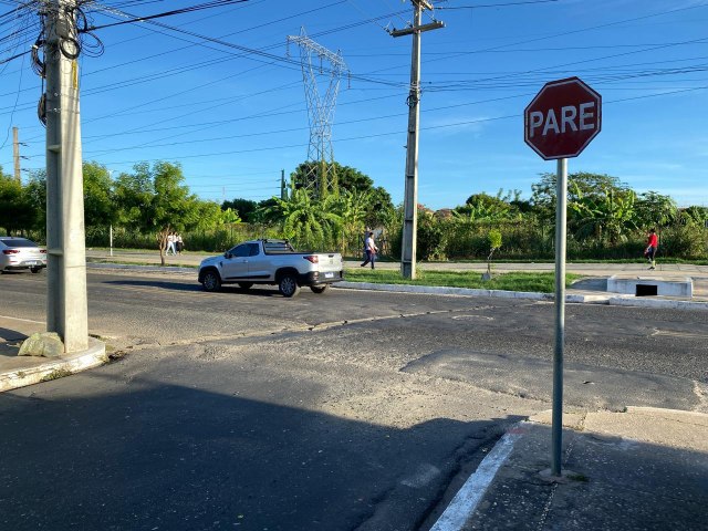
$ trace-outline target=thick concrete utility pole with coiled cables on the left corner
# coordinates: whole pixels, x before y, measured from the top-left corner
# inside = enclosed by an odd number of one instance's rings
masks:
[[[46,8],[46,329],[66,353],[88,346],[79,43],[69,13],[75,0]]]

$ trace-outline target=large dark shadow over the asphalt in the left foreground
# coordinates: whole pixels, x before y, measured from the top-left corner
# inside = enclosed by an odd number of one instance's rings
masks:
[[[397,429],[278,404],[317,402],[314,382],[227,377],[217,393],[202,374],[127,382],[116,365],[2,394],[0,528],[413,530],[518,420]]]

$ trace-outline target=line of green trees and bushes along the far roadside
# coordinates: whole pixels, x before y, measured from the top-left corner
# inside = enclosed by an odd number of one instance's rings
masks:
[[[288,238],[301,249],[339,250],[358,256],[363,235],[374,229],[384,254],[400,254],[403,206],[375,187],[371,177],[333,163],[336,188],[309,187],[313,163],[291,174],[281,197],[208,201],[191,194],[178,164],[140,163],[112,178],[95,162],[83,165],[87,246],[106,247],[113,228],[116,247],[165,249],[171,231],[185,236],[188,250],[222,251],[241,239]],[[25,184],[0,168],[0,233],[43,241],[46,212],[44,171]],[[656,191],[637,194],[618,178],[569,175],[569,259],[636,259],[646,232],[656,228],[665,257],[706,257],[708,209],[679,209]],[[419,260],[553,258],[555,175],[542,174],[529,199],[520,190],[473,194],[465,204],[433,211],[418,206]]]

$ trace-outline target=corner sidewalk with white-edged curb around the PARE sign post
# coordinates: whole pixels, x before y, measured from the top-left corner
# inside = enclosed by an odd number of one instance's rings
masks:
[[[502,437],[431,531],[708,529],[708,415],[628,407],[564,425],[561,478],[545,412]]]

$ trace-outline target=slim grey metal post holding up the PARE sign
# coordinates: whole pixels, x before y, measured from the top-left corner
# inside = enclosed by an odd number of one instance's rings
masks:
[[[558,159],[555,187],[555,351],[553,352],[553,419],[551,473],[561,475],[563,446],[563,345],[565,344],[565,241],[568,158]]]

